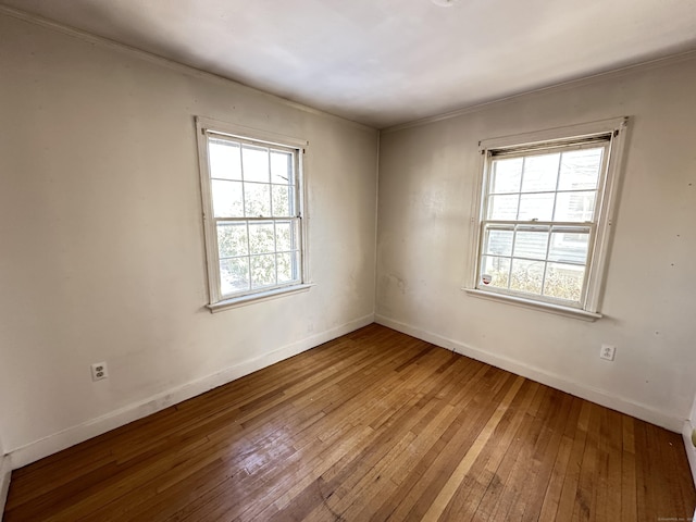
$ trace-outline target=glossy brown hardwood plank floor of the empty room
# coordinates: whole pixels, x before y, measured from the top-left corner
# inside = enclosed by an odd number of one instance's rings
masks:
[[[376,324],[12,474],[12,521],[659,521],[680,435]]]

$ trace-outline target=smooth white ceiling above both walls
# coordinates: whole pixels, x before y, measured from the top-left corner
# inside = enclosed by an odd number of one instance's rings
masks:
[[[696,49],[696,0],[0,0],[378,128]]]

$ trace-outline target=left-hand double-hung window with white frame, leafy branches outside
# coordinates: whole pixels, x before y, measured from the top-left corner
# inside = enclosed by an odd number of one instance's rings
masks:
[[[210,306],[306,289],[307,142],[197,119]],[[298,144],[301,144],[299,146]]]

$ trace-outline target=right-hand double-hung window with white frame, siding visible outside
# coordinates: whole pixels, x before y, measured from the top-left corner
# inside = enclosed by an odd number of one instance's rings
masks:
[[[485,164],[470,290],[600,316],[624,127],[621,119],[482,142]],[[560,137],[551,138],[555,133]]]

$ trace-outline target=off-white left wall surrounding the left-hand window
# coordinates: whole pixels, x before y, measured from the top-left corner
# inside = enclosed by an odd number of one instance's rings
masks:
[[[0,35],[15,467],[372,322],[374,129],[62,29],[0,15]],[[203,308],[195,115],[310,141],[309,293]],[[92,383],[99,361],[110,378]]]

